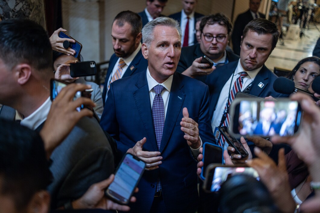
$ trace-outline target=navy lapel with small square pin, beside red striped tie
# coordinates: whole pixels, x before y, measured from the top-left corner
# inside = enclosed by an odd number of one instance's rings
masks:
[[[252,81],[252,85],[250,88],[250,94],[254,96],[260,96],[263,90],[268,86],[268,68],[263,65],[260,72],[258,72],[257,76]]]

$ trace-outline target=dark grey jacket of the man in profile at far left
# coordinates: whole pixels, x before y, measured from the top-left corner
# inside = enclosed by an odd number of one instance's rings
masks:
[[[15,110],[8,106],[5,109],[0,117],[13,120]],[[42,127],[43,124],[36,131]],[[78,199],[92,184],[107,179],[115,169],[111,146],[96,118],[81,118],[54,149],[50,159],[53,181],[47,189],[52,209]]]

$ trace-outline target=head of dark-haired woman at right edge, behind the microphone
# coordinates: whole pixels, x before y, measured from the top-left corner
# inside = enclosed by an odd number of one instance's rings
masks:
[[[296,87],[308,90],[311,82],[320,74],[320,58],[307,57],[298,62],[287,76]]]

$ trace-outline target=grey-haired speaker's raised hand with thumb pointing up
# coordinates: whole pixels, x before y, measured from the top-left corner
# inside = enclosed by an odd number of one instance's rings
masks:
[[[184,132],[183,137],[187,140],[189,147],[197,149],[201,145],[198,124],[192,118],[189,118],[188,109],[186,107],[183,108],[182,115],[183,118],[180,125],[182,132]]]

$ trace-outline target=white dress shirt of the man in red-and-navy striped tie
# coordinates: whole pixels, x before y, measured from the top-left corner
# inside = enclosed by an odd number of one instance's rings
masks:
[[[247,72],[248,75],[243,78],[243,87],[242,87],[241,91],[244,91],[245,88],[248,87],[252,83],[252,81],[257,76],[257,74],[261,70],[261,68],[262,68],[262,66],[259,67],[258,69]],[[230,90],[232,89],[236,80],[240,77],[241,72],[244,72],[244,69],[240,64],[240,59],[239,59],[239,62],[238,62],[238,65],[236,67],[235,72],[233,73],[233,75],[230,76],[229,80],[222,87],[222,90],[220,92],[218,103],[216,105],[216,110],[214,111],[212,119],[211,119],[211,126],[212,126],[213,131],[216,126],[220,125],[221,118],[223,116],[224,109],[225,109],[227,101],[228,101]],[[231,82],[231,79],[232,79],[232,82]],[[231,85],[231,88],[230,88],[230,85]]]

